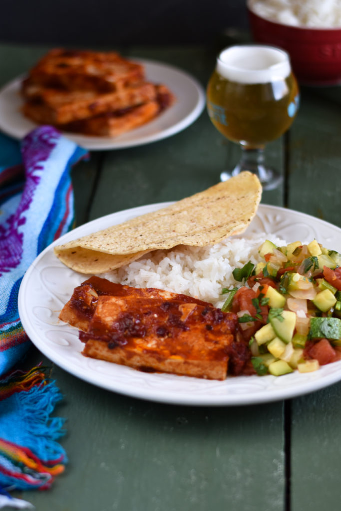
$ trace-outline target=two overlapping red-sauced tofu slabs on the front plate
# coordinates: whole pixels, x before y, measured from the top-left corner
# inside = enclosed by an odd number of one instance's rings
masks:
[[[236,365],[237,316],[186,295],[91,277],[75,289],[60,319],[81,330],[88,357],[216,380],[226,378],[229,359]],[[239,365],[246,362],[243,353]]]

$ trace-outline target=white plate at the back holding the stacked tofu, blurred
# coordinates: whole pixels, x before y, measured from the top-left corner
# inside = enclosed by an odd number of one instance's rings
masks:
[[[156,142],[174,135],[192,124],[202,112],[206,98],[200,83],[184,71],[161,62],[132,59],[145,66],[146,78],[164,83],[173,92],[175,103],[153,121],[115,138],[63,133],[88,150],[122,149]],[[22,98],[18,77],[0,90],[0,129],[15,138],[22,138],[37,125],[20,112]]]

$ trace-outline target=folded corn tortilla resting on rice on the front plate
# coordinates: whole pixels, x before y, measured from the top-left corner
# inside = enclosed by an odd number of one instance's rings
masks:
[[[205,246],[241,234],[257,212],[262,187],[251,172],[182,199],[156,212],[56,246],[66,266],[85,274],[104,273],[156,249]]]

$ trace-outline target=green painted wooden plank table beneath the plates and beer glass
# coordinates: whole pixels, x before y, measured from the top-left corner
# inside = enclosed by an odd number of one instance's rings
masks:
[[[214,48],[125,48],[178,66],[203,86]],[[0,45],[0,84],[46,51]],[[282,170],[262,202],[341,226],[341,89],[302,88],[290,132],[266,149]],[[93,152],[73,170],[77,225],[132,206],[204,190],[239,149],[204,111],[186,130],[129,149]],[[28,365],[43,360],[32,349]],[[20,494],[37,511],[338,511],[341,382],[262,405],[184,407],[102,390],[46,361],[64,394],[62,445],[70,462],[51,490]]]

